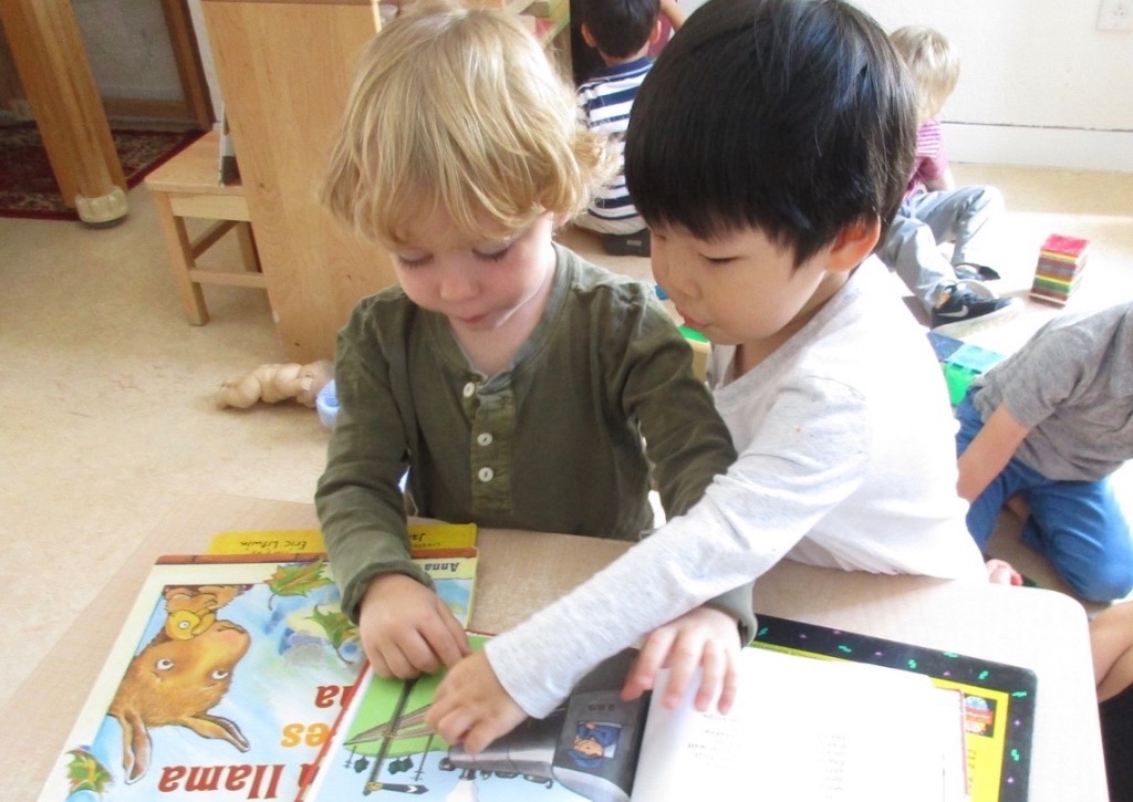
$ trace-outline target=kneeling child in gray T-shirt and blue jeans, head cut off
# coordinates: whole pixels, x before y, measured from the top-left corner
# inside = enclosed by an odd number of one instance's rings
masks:
[[[1133,304],[1043,325],[956,410],[960,495],[982,548],[1005,504],[1082,598],[1133,589],[1133,540],[1108,477],[1133,457]]]

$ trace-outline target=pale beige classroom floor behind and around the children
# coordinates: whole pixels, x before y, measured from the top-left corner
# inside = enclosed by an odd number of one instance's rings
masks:
[[[1072,308],[1133,299],[1133,174],[957,165],[1007,198],[1002,292],[1025,295],[1051,231],[1093,249]],[[153,205],[120,225],[0,219],[0,702],[15,693],[178,497],[220,492],[308,502],[326,432],[296,404],[218,410],[227,377],[283,355],[261,291],[210,287],[212,322],[186,324]],[[614,270],[585,233],[565,239]],[[206,257],[236,258],[235,248]],[[900,284],[894,284],[901,291]],[[1056,309],[1028,305],[976,338],[1010,350]],[[1025,557],[1025,555],[1024,555]],[[92,655],[91,659],[101,659]]]

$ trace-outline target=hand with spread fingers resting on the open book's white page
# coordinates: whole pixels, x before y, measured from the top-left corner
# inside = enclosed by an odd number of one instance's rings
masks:
[[[707,710],[716,702],[716,708],[726,714],[735,700],[740,647],[735,618],[714,607],[697,607],[649,633],[625,677],[622,699],[637,699],[653,690],[657,672],[668,668],[662,702],[675,709],[697,681],[699,669],[700,686],[693,706]]]

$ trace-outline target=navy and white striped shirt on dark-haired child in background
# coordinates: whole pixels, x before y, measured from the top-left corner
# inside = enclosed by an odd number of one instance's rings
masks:
[[[589,206],[587,228],[606,233],[634,233],[646,228],[633,207],[622,153],[625,148],[625,128],[638,88],[653,67],[648,57],[624,65],[599,69],[593,78],[579,86],[579,118],[587,128],[610,137],[610,147],[617,154],[617,174],[602,188]]]

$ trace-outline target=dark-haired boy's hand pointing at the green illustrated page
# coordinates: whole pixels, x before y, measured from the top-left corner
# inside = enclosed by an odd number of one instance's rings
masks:
[[[425,722],[448,743],[477,754],[525,718],[527,714],[500,684],[488,658],[477,651],[449,669]]]

